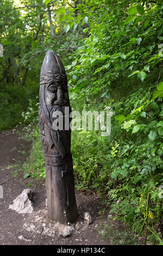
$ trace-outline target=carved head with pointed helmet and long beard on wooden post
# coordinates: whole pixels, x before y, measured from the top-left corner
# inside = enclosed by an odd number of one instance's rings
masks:
[[[55,145],[62,157],[70,154],[71,131],[54,130],[52,124],[56,119],[53,113],[59,111],[64,117],[65,107],[69,107],[71,112],[66,72],[59,56],[50,50],[43,60],[40,75],[40,131],[45,142],[42,143],[43,150],[47,150],[47,144],[51,148]]]

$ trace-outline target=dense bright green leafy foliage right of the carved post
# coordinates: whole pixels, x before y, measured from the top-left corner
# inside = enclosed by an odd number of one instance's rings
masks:
[[[86,1],[78,10],[88,19],[83,45],[68,65],[72,104],[80,109],[82,98],[87,109],[103,109],[114,99],[116,115],[110,138],[95,132],[74,136],[77,187],[107,192],[104,203],[111,203],[116,217],[136,233],[147,229],[151,240],[160,243],[161,1]]]

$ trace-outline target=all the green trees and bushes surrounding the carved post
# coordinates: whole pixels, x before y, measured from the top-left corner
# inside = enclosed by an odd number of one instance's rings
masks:
[[[66,66],[73,110],[101,111],[109,106],[115,111],[108,137],[98,131],[72,132],[76,187],[103,194],[114,220],[161,244],[162,2],[20,2],[26,6],[23,14],[12,1],[0,5],[5,53],[0,129],[20,121],[37,123],[40,66],[48,49],[57,51]],[[50,34],[47,7],[55,36]],[[44,177],[37,127],[31,139],[24,169],[33,177]]]

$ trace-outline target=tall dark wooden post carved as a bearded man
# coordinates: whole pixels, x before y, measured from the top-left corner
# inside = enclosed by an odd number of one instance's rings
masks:
[[[65,224],[78,217],[71,155],[71,119],[65,114],[67,109],[71,113],[65,68],[59,56],[49,50],[40,75],[40,136],[46,167],[48,215],[51,220]],[[63,127],[60,125],[56,129],[60,114]]]

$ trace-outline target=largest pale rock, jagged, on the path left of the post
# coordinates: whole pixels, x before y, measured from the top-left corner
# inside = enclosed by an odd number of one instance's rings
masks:
[[[9,209],[17,211],[19,214],[30,214],[33,212],[33,206],[30,198],[32,191],[30,188],[23,190],[22,193],[13,200],[13,204],[9,205]]]

